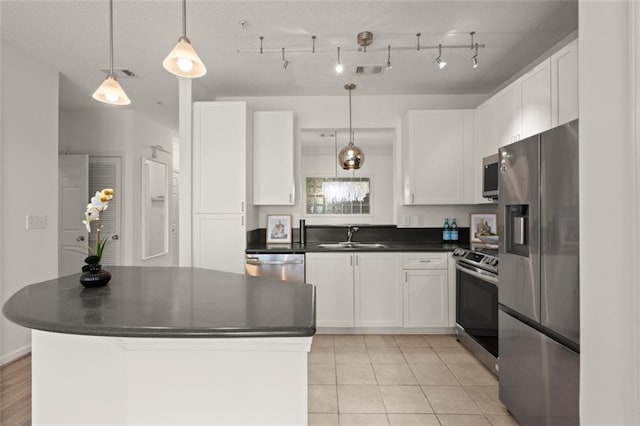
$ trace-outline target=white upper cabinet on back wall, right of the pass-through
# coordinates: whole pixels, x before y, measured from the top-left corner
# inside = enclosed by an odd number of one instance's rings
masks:
[[[403,202],[473,203],[473,110],[408,111],[403,123]]]

